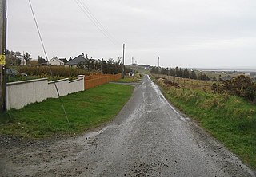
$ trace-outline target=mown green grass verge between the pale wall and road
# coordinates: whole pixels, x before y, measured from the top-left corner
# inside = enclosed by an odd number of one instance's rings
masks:
[[[133,87],[106,84],[62,96],[71,128],[58,99],[47,99],[0,115],[0,134],[27,138],[73,135],[106,123],[129,100]]]

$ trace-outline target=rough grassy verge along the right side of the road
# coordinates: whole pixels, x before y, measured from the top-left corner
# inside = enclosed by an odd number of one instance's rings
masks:
[[[256,106],[238,96],[167,88],[166,98],[256,169]]]

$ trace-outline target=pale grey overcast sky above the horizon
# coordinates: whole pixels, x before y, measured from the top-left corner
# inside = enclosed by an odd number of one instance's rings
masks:
[[[49,59],[116,59],[125,43],[126,64],[256,69],[255,0],[79,1],[107,32],[75,0],[31,0]],[[44,57],[28,0],[7,3],[7,48]]]

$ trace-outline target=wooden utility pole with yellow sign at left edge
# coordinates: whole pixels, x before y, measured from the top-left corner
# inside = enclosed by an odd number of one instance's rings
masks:
[[[0,112],[6,111],[6,0],[0,0]]]

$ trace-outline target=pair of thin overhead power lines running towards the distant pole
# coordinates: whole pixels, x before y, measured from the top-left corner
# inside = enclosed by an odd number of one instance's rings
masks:
[[[114,37],[112,37],[110,35],[110,33],[102,26],[101,22],[98,21],[98,19],[94,16],[94,14],[90,11],[90,8],[88,6],[86,6],[85,2],[83,2],[82,0],[75,0],[74,2],[76,2],[76,4],[78,5],[78,7],[80,8],[80,10],[82,10],[82,13],[86,15],[87,18],[90,19],[90,21],[94,24],[94,26],[96,26],[98,28],[98,30],[100,30],[100,32],[107,38],[109,39],[114,45],[119,45],[118,41],[116,41],[114,39]]]

